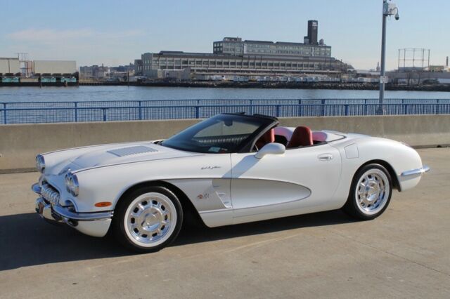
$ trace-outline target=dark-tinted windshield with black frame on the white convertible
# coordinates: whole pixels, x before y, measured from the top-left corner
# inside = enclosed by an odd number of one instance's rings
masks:
[[[187,152],[224,154],[237,152],[273,121],[262,117],[219,114],[163,141],[162,146]]]

